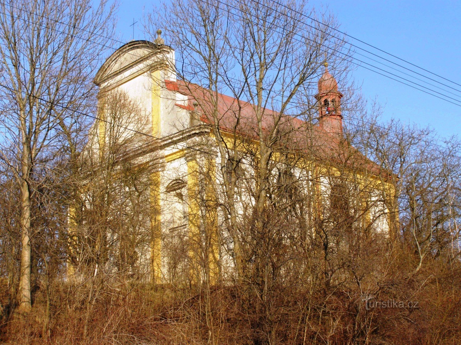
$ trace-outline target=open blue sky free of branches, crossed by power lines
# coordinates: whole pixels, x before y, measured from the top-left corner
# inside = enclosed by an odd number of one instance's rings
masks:
[[[144,38],[141,18],[154,3],[159,1],[120,0],[116,28],[120,40],[132,39],[133,18],[138,21],[134,38]],[[311,0],[310,4],[328,7],[341,30],[349,35],[461,84],[461,1]],[[366,98],[377,98],[384,106],[383,121],[395,117],[421,127],[431,126],[444,137],[461,131],[461,106],[361,67],[355,69],[353,77],[362,85]],[[461,90],[461,86],[455,87]]]

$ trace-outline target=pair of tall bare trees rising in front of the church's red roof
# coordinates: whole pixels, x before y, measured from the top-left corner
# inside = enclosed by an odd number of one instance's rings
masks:
[[[286,132],[290,126],[287,115],[306,118],[316,109],[306,102],[305,92],[312,91],[310,86],[317,82],[325,56],[337,60],[338,71],[343,72],[348,64],[342,55],[343,41],[329,35],[336,26],[334,18],[324,13],[320,15],[324,24],[306,23],[301,15],[306,10],[305,2],[173,1],[148,19],[150,32],[168,28],[167,37],[180,57],[177,75],[198,102],[198,112],[211,124],[238,279],[243,277],[244,262],[236,223],[236,169],[245,150],[240,137],[228,140],[223,128],[234,134],[245,132],[258,143],[255,212],[261,214],[270,179],[269,161],[280,142],[281,127]],[[206,91],[198,91],[191,83]],[[225,105],[224,116],[221,93],[236,98]]]

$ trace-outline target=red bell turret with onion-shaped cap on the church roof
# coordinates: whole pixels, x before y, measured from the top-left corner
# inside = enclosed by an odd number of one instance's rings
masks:
[[[315,95],[319,109],[319,128],[328,134],[343,134],[343,116],[341,115],[341,98],[336,79],[328,71],[328,63],[324,63],[325,72],[319,79],[319,93]]]

